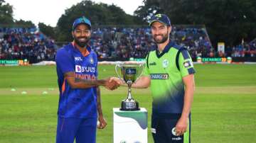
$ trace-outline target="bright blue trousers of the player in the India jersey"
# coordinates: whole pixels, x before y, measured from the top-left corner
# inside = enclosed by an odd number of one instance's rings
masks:
[[[56,143],[95,143],[97,118],[58,117]]]

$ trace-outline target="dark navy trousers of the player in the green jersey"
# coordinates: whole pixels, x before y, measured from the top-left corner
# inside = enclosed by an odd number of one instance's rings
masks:
[[[188,129],[176,136],[175,128],[181,114],[162,114],[151,116],[151,132],[155,143],[190,143],[191,142],[191,115],[188,118]]]

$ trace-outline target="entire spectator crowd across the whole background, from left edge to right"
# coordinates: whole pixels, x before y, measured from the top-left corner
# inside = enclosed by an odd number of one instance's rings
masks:
[[[256,57],[255,41],[217,52],[203,26],[174,25],[171,41],[186,47],[191,57]],[[146,27],[100,27],[92,29],[92,50],[99,59],[144,58],[156,45],[151,30]],[[55,59],[58,46],[36,28],[0,28],[0,59],[28,59],[40,62]]]

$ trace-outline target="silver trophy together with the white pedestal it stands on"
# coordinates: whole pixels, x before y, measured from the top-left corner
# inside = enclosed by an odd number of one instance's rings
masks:
[[[121,69],[122,76],[118,74],[117,67]],[[140,74],[139,68],[142,68]],[[121,108],[113,108],[114,143],[147,142],[147,110],[139,108],[139,103],[132,98],[132,84],[142,75],[143,68],[143,64],[116,65],[116,73],[127,84],[128,94],[122,101]]]

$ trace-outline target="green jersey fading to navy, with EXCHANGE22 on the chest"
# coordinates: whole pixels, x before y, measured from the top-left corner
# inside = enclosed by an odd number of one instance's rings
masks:
[[[153,96],[153,113],[182,113],[184,84],[182,78],[194,74],[193,62],[187,50],[181,50],[178,57],[178,70],[176,55],[180,46],[169,42],[163,52],[158,50],[149,52],[146,57],[144,76],[150,76],[151,93]]]

